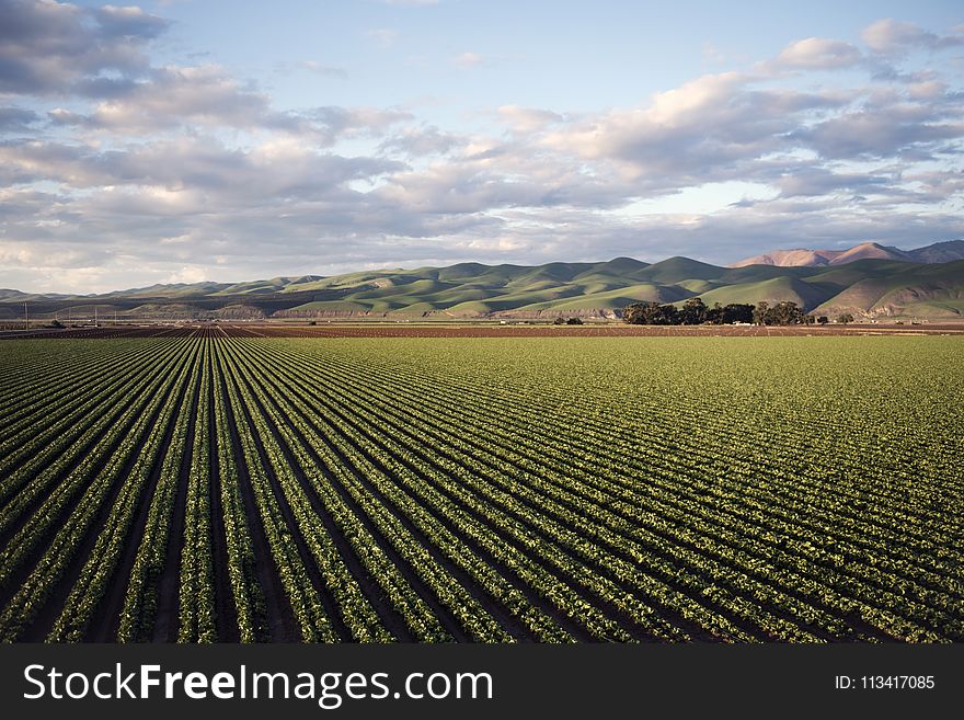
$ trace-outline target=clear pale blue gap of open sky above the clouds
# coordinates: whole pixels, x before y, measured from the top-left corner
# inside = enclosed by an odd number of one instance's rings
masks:
[[[207,59],[274,89],[275,101],[381,105],[424,95],[479,108],[504,104],[597,111],[645,100],[704,72],[778,54],[801,37],[859,42],[881,18],[925,27],[964,21],[953,2],[526,2],[378,0],[153,3],[174,20],[163,57]],[[296,20],[295,20],[296,19]],[[379,31],[392,35],[374,35]],[[175,39],[176,38],[176,39]],[[482,69],[467,83],[452,60],[473,53]],[[284,75],[305,59],[348,81]],[[306,83],[308,87],[306,88]],[[309,94],[306,94],[309,93]]]

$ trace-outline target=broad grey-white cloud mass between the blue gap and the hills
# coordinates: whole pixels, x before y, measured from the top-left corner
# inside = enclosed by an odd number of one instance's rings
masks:
[[[964,94],[910,53],[951,47],[953,33],[881,21],[861,48],[802,38],[741,60],[746,71],[595,112],[439,112],[479,121],[469,130],[411,107],[279,108],[225,67],[151,64],[169,26],[137,8],[0,0],[0,93],[20,95],[0,106],[0,286],[730,262],[784,243],[964,235]],[[347,77],[318,60],[278,67]],[[754,190],[734,202],[734,186]]]

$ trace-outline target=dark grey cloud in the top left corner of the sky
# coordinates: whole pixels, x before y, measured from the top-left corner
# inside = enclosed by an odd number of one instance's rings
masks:
[[[70,93],[101,73],[138,77],[146,45],[169,23],[137,8],[96,10],[44,0],[0,2],[0,92]],[[95,90],[96,84],[89,85]]]

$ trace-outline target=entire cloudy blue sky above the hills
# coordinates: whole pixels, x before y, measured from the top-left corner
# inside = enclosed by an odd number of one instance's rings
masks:
[[[0,0],[25,292],[909,249],[962,159],[960,2]]]

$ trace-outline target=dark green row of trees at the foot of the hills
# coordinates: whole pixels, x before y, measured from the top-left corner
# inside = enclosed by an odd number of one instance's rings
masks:
[[[728,325],[742,322],[757,325],[827,324],[827,316],[813,316],[803,311],[796,302],[783,301],[771,306],[760,301],[756,306],[747,302],[714,304],[709,307],[698,297],[692,297],[677,308],[675,305],[659,302],[635,302],[622,310],[623,321],[635,325]],[[853,316],[837,316],[837,322],[853,322]]]

